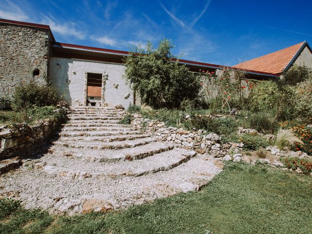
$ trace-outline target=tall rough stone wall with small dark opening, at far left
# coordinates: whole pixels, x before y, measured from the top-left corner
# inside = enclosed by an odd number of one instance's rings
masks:
[[[47,29],[0,23],[0,97],[12,96],[21,81],[44,84],[50,52]],[[33,71],[39,76],[33,78]]]

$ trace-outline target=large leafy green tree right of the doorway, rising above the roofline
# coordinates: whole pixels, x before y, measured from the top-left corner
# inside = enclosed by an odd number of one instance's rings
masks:
[[[163,39],[153,48],[148,42],[145,49],[133,47],[124,58],[125,78],[140,96],[142,103],[153,108],[179,108],[183,100],[198,97],[200,81],[171,53],[171,40]]]

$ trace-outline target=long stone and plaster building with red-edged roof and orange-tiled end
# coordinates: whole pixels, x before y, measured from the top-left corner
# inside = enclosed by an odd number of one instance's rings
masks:
[[[234,67],[183,59],[179,63],[194,72],[242,69],[254,79],[279,78],[293,63],[312,68],[307,42],[282,52]],[[59,88],[72,106],[121,104],[127,108],[129,104],[140,104],[123,78],[122,59],[128,55],[126,51],[56,42],[49,25],[0,19],[0,97],[10,97],[17,84],[34,80]]]

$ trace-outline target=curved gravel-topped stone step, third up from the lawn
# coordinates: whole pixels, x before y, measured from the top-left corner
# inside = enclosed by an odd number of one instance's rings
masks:
[[[120,160],[138,160],[159,154],[161,152],[172,150],[173,148],[174,146],[172,144],[155,141],[150,144],[120,150],[89,150],[54,146],[52,149],[50,149],[50,152],[56,156],[62,155],[73,158],[77,157],[98,162],[114,162]]]

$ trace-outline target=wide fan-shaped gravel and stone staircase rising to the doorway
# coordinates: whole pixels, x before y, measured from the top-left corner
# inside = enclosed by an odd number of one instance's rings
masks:
[[[1,178],[0,195],[51,213],[107,211],[198,190],[221,171],[214,158],[118,124],[123,114],[72,109],[47,154]]]

